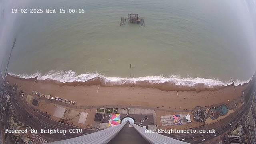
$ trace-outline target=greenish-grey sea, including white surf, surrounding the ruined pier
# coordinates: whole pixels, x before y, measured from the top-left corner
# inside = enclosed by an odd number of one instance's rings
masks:
[[[0,0],[1,74],[239,85],[256,70],[255,27],[255,0]]]

